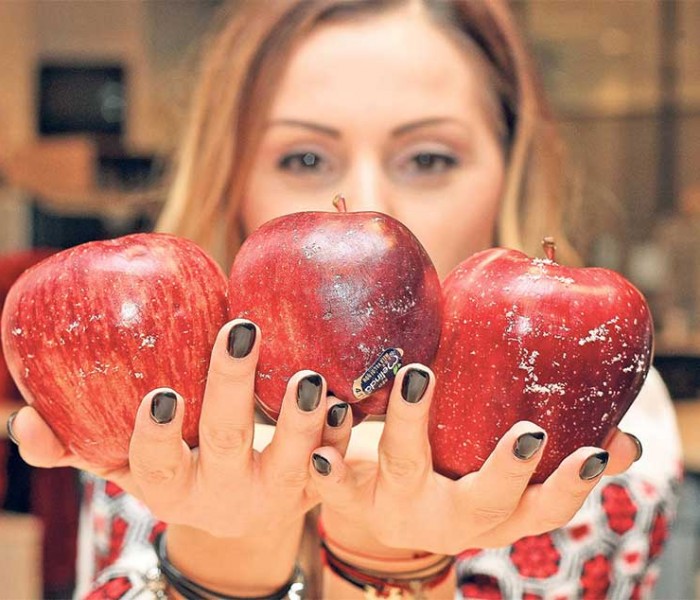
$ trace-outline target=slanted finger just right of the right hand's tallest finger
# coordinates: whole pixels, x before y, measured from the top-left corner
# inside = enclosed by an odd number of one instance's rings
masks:
[[[469,511],[476,527],[487,531],[513,513],[542,458],[545,443],[541,427],[520,421],[499,440],[479,471],[459,480],[464,497],[470,498]]]

